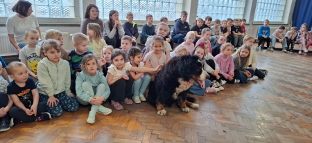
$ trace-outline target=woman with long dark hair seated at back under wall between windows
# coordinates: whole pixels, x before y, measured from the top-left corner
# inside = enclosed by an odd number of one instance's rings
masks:
[[[101,37],[103,36],[103,21],[98,18],[98,7],[94,4],[89,4],[87,10],[85,10],[85,19],[81,22],[80,32],[87,35],[87,25],[88,23],[98,23],[101,27]]]

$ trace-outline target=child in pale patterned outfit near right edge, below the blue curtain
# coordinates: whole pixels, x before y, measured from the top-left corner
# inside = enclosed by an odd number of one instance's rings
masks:
[[[300,30],[298,31],[298,36],[297,36],[297,41],[300,43],[298,54],[302,55],[302,50],[304,50],[305,53],[308,52],[308,50],[306,50],[306,44],[308,43],[308,39],[309,39],[308,37],[309,37],[308,26],[306,25],[306,23],[303,23],[300,26]]]

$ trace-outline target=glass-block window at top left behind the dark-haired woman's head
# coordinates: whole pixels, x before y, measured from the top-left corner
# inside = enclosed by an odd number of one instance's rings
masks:
[[[11,8],[18,0],[0,0],[0,17],[15,15]],[[74,0],[28,0],[36,17],[75,17]]]

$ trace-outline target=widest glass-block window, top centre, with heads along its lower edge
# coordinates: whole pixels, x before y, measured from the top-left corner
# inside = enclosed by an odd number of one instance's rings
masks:
[[[123,20],[131,11],[135,20],[146,20],[145,16],[151,14],[155,20],[167,17],[173,21],[180,17],[182,3],[183,0],[96,0],[101,19],[109,19],[110,10],[117,10]]]

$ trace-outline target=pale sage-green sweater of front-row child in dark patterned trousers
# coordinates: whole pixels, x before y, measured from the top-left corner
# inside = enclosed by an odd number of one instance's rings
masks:
[[[57,95],[65,91],[67,95],[71,94],[71,72],[69,63],[60,59],[58,64],[53,64],[47,57],[38,63],[37,75],[39,84],[38,92],[43,95]]]

